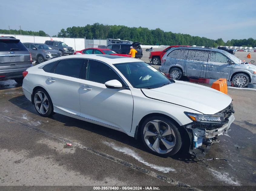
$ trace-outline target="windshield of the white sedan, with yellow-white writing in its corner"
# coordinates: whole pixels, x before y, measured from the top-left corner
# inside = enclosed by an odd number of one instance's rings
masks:
[[[174,82],[145,62],[126,62],[114,66],[135,88],[159,88]]]

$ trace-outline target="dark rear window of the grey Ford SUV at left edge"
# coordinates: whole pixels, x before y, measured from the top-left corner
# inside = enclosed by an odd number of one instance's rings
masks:
[[[17,39],[0,39],[0,51],[28,51],[28,49]]]

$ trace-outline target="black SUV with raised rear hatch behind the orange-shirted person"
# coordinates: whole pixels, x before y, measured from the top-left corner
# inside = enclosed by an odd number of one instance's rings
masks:
[[[110,44],[107,46],[108,49],[115,51],[118,54],[128,54],[130,52],[130,47],[133,46],[138,53],[135,54],[135,58],[142,58],[142,49],[139,42],[134,42],[132,44]]]

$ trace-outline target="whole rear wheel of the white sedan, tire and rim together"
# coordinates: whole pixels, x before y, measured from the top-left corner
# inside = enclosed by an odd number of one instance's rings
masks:
[[[54,114],[52,100],[49,94],[42,88],[34,93],[34,106],[37,113],[43,117],[49,117]]]

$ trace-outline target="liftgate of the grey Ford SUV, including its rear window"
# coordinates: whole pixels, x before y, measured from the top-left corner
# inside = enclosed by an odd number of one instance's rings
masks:
[[[0,39],[0,68],[25,68],[31,65],[26,47],[18,39]]]

